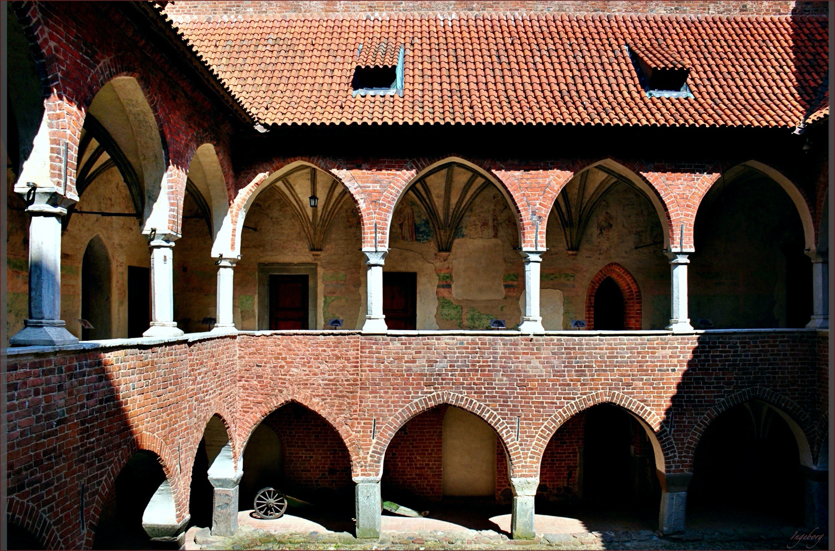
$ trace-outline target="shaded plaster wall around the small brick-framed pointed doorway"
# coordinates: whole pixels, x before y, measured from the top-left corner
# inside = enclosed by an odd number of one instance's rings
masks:
[[[595,182],[593,178],[599,181],[603,177],[594,172],[597,174],[590,174],[590,185]],[[570,190],[576,180],[564,190]],[[539,301],[545,329],[571,329],[572,320],[585,319],[591,280],[610,262],[623,265],[638,281],[642,328],[663,329],[670,320],[670,265],[663,252],[662,231],[650,201],[620,184],[590,213],[577,255],[571,258],[559,216],[552,210],[546,234],[548,251],[542,256],[540,276]],[[562,325],[558,326],[560,311]]]

